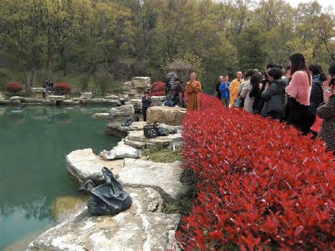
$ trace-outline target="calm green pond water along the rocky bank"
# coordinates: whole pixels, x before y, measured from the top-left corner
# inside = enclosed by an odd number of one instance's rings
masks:
[[[119,138],[105,134],[106,122],[92,119],[107,110],[0,107],[0,250],[25,248],[56,225],[57,199],[80,198],[66,171],[66,155],[116,146]]]

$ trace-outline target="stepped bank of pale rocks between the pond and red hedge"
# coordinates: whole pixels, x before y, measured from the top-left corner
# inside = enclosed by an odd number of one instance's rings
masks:
[[[111,134],[127,136],[110,151],[95,155],[92,149],[81,149],[66,156],[66,168],[74,180],[98,181],[101,169],[107,167],[129,192],[133,204],[115,216],[92,216],[84,206],[78,214],[50,228],[30,243],[28,250],[170,250],[178,249],[175,232],[180,214],[166,214],[165,204],[184,193],[180,181],[182,163],[158,163],[141,154],[145,148],[177,148],[182,146],[182,108],[151,107],[148,119],[162,127],[173,129],[174,134],[147,139],[143,135],[146,122],[134,122],[122,127],[122,119],[134,116],[134,106],[114,107],[103,119],[110,121]],[[159,116],[158,116],[159,114]],[[165,116],[171,114],[171,116]],[[155,117],[154,117],[155,116]],[[99,119],[99,115],[95,118]],[[173,118],[173,119],[172,119]],[[167,124],[165,124],[167,122]]]

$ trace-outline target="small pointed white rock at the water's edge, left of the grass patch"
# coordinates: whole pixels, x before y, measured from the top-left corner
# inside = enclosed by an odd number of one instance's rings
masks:
[[[114,146],[112,150],[103,150],[100,153],[100,157],[105,160],[115,160],[117,158],[139,158],[141,151],[138,149],[127,146],[123,141],[120,141],[117,146]]]

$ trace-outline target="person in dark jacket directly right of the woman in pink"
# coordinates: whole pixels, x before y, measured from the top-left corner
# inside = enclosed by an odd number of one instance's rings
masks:
[[[326,81],[326,76],[319,64],[311,64],[308,67],[312,74],[312,90],[310,92],[310,112],[315,117],[317,107],[324,101],[322,92],[322,83]]]

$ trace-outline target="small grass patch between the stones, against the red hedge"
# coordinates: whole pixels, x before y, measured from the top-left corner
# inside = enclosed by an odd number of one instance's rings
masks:
[[[179,151],[172,151],[170,149],[144,149],[141,151],[142,156],[147,156],[149,160],[160,163],[172,163],[175,161],[182,161],[182,155]]]

